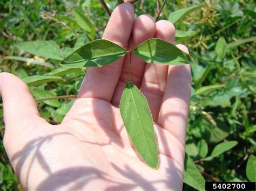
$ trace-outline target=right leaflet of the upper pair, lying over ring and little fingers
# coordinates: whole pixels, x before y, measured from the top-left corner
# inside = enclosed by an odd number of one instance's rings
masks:
[[[137,46],[133,53],[147,63],[163,63],[165,65],[184,65],[193,58],[175,45],[164,40],[152,38]]]

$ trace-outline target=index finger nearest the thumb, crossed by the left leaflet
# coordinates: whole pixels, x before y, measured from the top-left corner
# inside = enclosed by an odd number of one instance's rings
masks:
[[[130,3],[122,3],[114,9],[107,23],[103,39],[127,48],[132,31],[134,10]],[[91,67],[85,75],[78,98],[99,98],[110,102],[119,79],[124,58],[103,67]]]

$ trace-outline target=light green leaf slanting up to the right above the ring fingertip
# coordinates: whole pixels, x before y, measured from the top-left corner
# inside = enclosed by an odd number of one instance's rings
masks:
[[[197,11],[198,9],[201,9],[202,7],[203,5],[190,6],[188,8],[173,11],[169,15],[169,21],[175,24],[176,22],[178,22],[179,19],[184,19],[187,15],[190,15],[192,12]]]

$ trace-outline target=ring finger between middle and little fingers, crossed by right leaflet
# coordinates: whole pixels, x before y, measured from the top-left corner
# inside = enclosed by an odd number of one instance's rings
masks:
[[[167,20],[157,22],[154,37],[174,43],[175,27]],[[140,90],[147,98],[153,121],[157,122],[167,80],[168,65],[147,63]]]

